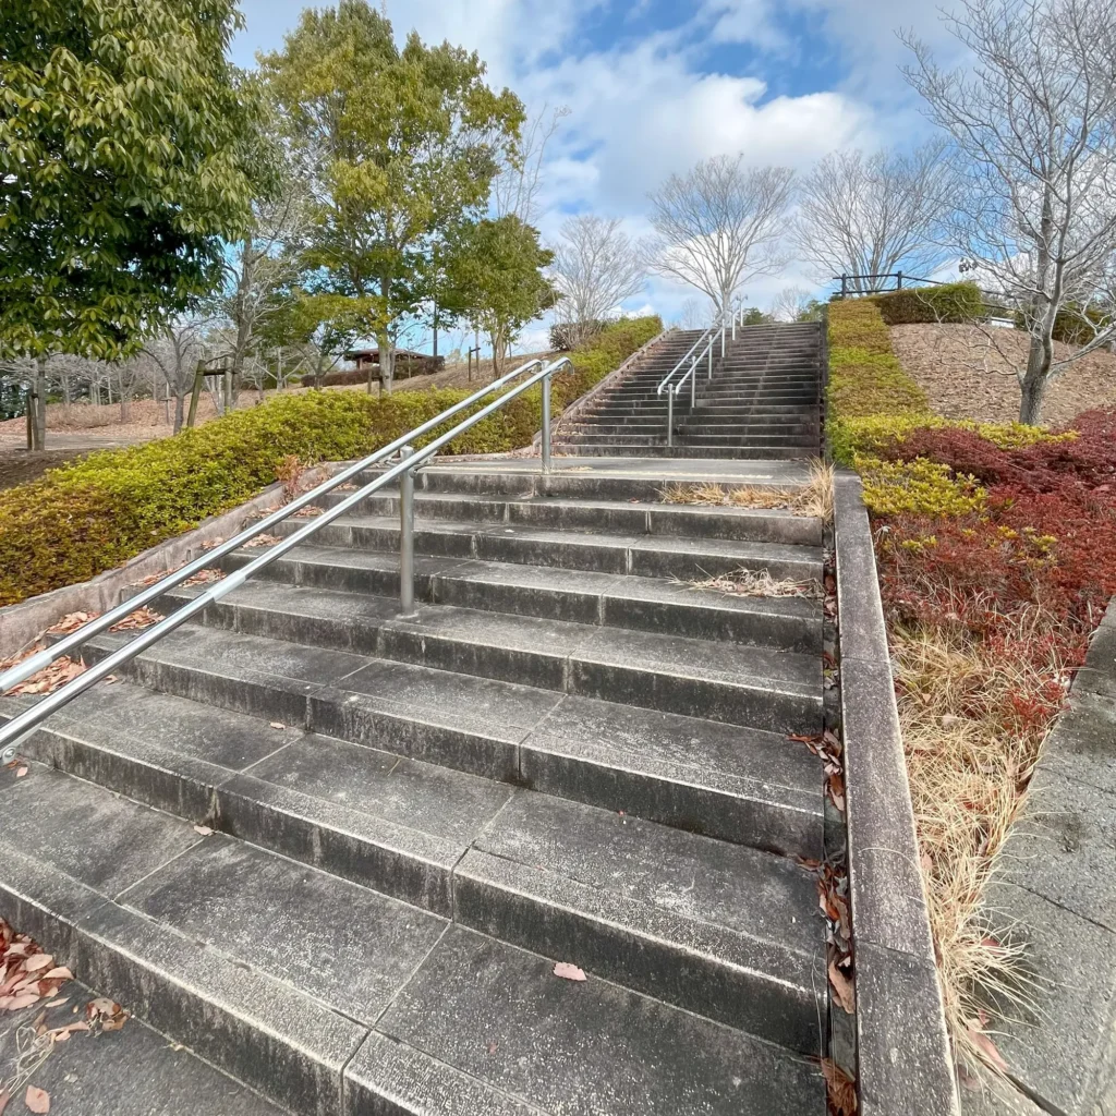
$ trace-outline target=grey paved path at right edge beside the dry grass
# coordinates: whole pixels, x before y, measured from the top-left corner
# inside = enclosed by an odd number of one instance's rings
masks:
[[[1014,924],[1031,981],[1031,1006],[1006,1012],[997,1045],[1011,1083],[1043,1113],[1116,1114],[1114,869],[1116,598],[1042,745],[985,896],[998,923]],[[989,1098],[978,1109],[1018,1110]]]

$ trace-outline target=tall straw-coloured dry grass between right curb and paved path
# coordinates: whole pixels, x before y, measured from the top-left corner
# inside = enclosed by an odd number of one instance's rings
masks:
[[[946,1019],[962,1065],[1003,1070],[988,1009],[1026,1004],[1020,950],[984,893],[1019,815],[1070,664],[1052,614],[1011,618],[995,646],[963,629],[892,633],[899,719],[939,953]]]

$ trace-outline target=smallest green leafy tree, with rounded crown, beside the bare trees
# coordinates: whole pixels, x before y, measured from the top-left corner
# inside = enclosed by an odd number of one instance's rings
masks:
[[[497,375],[523,326],[557,300],[542,273],[552,260],[518,217],[464,225],[450,242],[445,305],[488,336]]]

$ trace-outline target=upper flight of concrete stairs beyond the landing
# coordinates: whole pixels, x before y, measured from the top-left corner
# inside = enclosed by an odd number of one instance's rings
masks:
[[[715,348],[713,377],[699,369],[696,400],[689,384],[675,400],[674,444],[666,444],[666,395],[660,382],[699,339],[672,331],[602,393],[587,412],[564,424],[556,452],[609,456],[811,458],[820,453],[821,326],[743,326],[725,355]]]

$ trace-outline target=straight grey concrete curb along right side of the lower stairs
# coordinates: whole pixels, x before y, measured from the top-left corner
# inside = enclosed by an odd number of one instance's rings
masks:
[[[834,482],[862,1116],[960,1116],[860,480]]]

